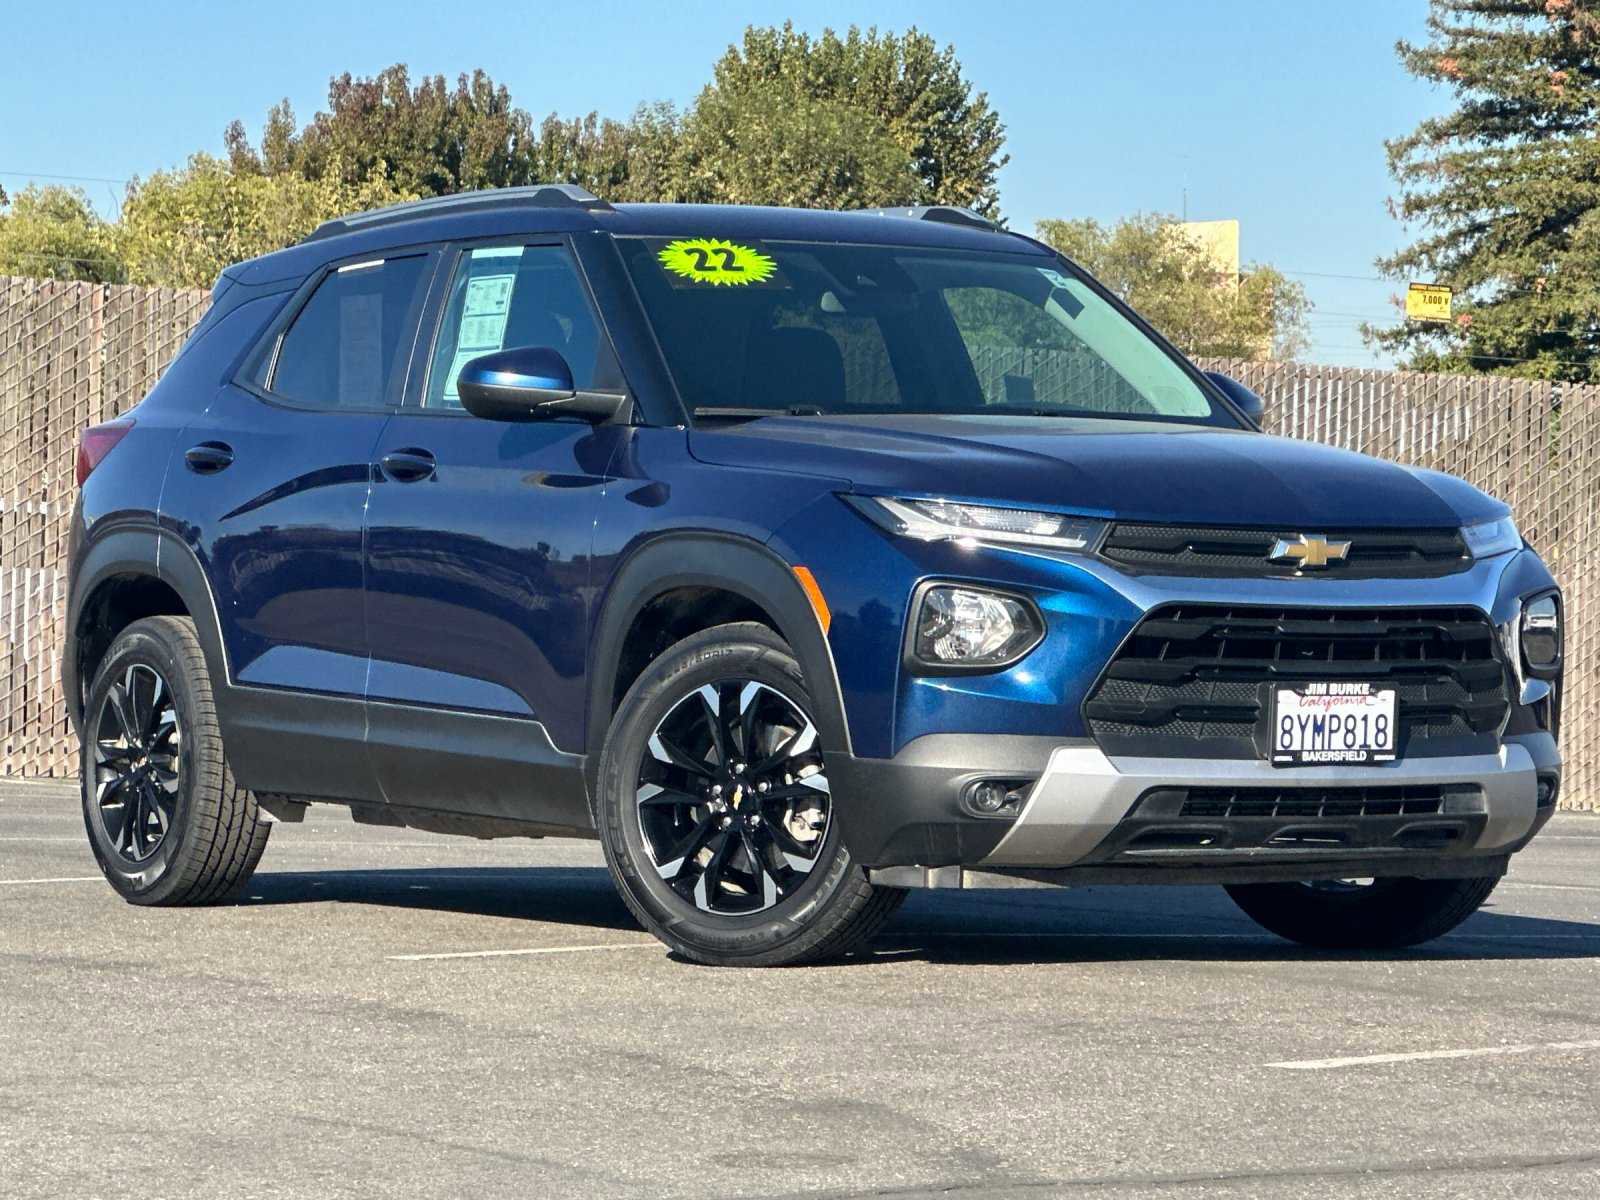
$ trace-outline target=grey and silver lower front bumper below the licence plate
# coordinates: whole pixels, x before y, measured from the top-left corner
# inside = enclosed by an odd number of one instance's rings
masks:
[[[1506,738],[1496,754],[1288,770],[947,734],[894,760],[830,755],[827,766],[851,853],[901,885],[949,867],[1058,883],[1493,875],[1554,813],[1562,774],[1547,733]],[[963,810],[973,781],[1016,776],[1037,782],[1013,819]],[[1248,803],[1186,811],[1190,792]]]

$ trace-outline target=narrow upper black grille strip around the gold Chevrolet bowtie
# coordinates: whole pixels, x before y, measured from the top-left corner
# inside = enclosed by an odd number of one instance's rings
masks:
[[[1293,542],[1312,530],[1227,530],[1118,522],[1106,534],[1101,557],[1134,571],[1166,574],[1293,576],[1296,563],[1267,560],[1278,539]],[[1330,578],[1416,578],[1451,574],[1472,565],[1459,530],[1315,530],[1349,542],[1342,560],[1317,571]]]

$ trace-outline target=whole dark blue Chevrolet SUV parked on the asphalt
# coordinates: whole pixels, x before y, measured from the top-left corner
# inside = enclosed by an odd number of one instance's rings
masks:
[[[597,837],[709,963],[997,882],[1394,947],[1554,811],[1560,595],[1506,506],[1262,435],[965,210],[467,194],[213,294],[78,451],[62,670],[136,904],[333,802]]]

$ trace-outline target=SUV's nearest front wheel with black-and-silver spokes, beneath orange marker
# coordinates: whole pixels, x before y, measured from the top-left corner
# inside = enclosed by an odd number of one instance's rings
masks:
[[[794,651],[758,624],[678,642],[618,709],[598,773],[606,864],[640,923],[685,958],[837,958],[906,899],[842,843],[810,714]]]

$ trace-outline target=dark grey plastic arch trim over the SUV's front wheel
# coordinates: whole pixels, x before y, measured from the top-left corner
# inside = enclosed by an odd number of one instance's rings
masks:
[[[730,533],[661,533],[635,547],[618,566],[600,603],[589,659],[586,742],[590,773],[611,725],[611,693],[622,645],[638,613],[680,587],[715,587],[760,606],[805,670],[822,744],[850,750],[850,725],[834,651],[790,563],[771,547]],[[590,778],[590,784],[594,779]]]

